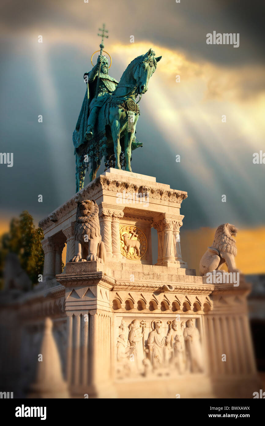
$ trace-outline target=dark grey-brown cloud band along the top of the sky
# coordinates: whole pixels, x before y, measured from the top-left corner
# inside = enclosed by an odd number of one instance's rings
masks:
[[[148,39],[183,50],[193,58],[233,66],[264,62],[264,12],[263,1],[249,0],[89,0],[88,4],[26,0],[5,2],[1,20],[11,32],[83,28],[88,35],[96,35],[98,25],[105,20],[112,40],[124,43],[134,35],[136,41]],[[213,31],[239,33],[237,52],[233,46],[206,45],[206,34]]]

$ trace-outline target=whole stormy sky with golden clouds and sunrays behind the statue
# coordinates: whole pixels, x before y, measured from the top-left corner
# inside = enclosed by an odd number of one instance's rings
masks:
[[[265,225],[265,164],[252,161],[265,153],[263,2],[3,0],[1,9],[0,150],[14,153],[13,167],[0,164],[1,223],[25,209],[37,221],[74,194],[72,132],[105,22],[117,80],[150,47],[162,55],[140,101],[133,171],[188,192],[184,230]],[[213,31],[239,33],[239,47],[207,45]]]

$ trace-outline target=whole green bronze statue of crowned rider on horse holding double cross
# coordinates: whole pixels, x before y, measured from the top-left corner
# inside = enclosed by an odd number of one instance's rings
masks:
[[[102,55],[103,37],[108,37],[105,26],[100,31],[100,55],[97,64],[84,74],[87,88],[73,133],[77,192],[84,187],[85,170],[89,167],[90,181],[96,178],[103,157],[105,170],[123,167],[131,171],[131,152],[142,147],[135,137],[138,102],[161,59],[149,49],[131,61],[118,83],[108,75],[108,58]]]

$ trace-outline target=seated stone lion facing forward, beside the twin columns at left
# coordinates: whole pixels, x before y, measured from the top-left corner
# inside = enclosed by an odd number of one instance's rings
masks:
[[[76,255],[69,262],[99,260],[105,263],[106,250],[103,241],[101,241],[96,201],[83,200],[78,202],[74,238]]]

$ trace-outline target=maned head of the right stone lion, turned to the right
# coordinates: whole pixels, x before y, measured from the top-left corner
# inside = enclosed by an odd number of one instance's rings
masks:
[[[236,241],[233,236],[236,236],[238,229],[230,223],[220,225],[214,235],[212,247],[217,248],[220,252],[226,251],[234,256],[237,256]]]

